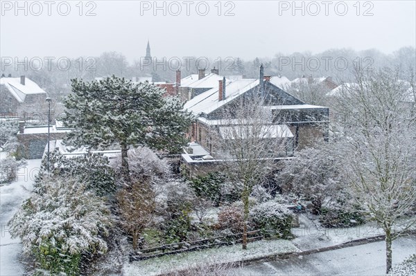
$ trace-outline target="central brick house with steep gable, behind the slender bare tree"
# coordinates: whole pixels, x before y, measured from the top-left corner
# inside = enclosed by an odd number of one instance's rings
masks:
[[[189,131],[192,144],[188,147],[189,151],[185,149],[185,154],[182,154],[182,160],[191,171],[198,167],[200,173],[209,170],[209,167],[216,167],[214,147],[220,141],[213,140],[211,134],[220,134],[224,127],[229,127],[229,122],[224,125],[223,111],[232,109],[233,101],[241,97],[250,100],[262,93],[266,103],[263,108],[273,115],[278,114],[272,117],[275,118],[273,125],[282,130],[276,138],[291,141],[288,143],[291,146],[277,155],[279,158],[291,158],[293,151],[308,147],[316,139],[327,140],[329,109],[302,102],[272,84],[270,79],[263,75],[261,66],[259,80],[227,81],[223,78],[218,81],[218,86],[196,95],[184,104],[184,109],[191,111],[197,118]]]

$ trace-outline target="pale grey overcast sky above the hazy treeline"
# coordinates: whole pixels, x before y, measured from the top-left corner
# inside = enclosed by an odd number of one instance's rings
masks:
[[[159,1],[159,10],[154,1],[91,1],[83,2],[82,10],[78,1],[53,2],[20,1],[18,9],[15,1],[1,1],[2,57],[96,56],[114,50],[132,61],[145,55],[148,39],[157,57],[243,59],[329,48],[392,53],[416,41],[413,0],[297,1],[297,10],[293,1],[223,1],[220,10],[218,1]],[[93,16],[86,16],[88,11]]]

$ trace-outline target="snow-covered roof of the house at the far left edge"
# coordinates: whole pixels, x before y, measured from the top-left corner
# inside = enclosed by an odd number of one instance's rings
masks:
[[[20,77],[1,77],[0,84],[6,86],[18,102],[24,102],[26,95],[46,94],[39,85],[28,77],[25,77],[24,85],[20,83]]]

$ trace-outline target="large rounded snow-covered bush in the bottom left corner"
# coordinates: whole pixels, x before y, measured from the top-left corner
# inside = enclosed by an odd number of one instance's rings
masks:
[[[13,238],[51,274],[79,275],[82,253],[105,252],[112,225],[101,197],[76,178],[44,178],[9,221]]]

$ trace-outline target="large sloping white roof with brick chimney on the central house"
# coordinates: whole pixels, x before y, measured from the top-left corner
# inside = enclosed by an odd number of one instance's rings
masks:
[[[256,79],[241,79],[235,81],[225,81],[225,99],[218,101],[218,84],[213,88],[197,95],[184,104],[184,109],[191,111],[195,115],[200,113],[211,113],[222,107],[227,102],[239,95],[249,91],[259,84]]]

